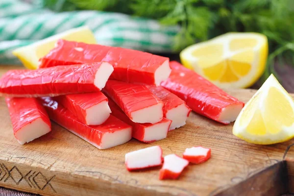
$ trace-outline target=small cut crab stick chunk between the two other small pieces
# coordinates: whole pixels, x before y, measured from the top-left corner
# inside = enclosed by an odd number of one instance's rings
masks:
[[[189,161],[175,154],[169,154],[164,157],[164,163],[159,171],[159,179],[177,179],[185,167],[189,165]]]

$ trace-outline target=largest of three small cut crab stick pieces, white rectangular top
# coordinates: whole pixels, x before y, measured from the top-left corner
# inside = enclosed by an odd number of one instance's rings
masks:
[[[160,166],[162,161],[161,147],[154,146],[126,153],[124,163],[128,171],[133,171]]]

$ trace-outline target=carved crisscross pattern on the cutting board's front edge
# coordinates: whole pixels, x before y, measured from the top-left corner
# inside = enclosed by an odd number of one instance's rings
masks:
[[[18,179],[15,174],[20,175],[20,179]],[[48,178],[42,172],[39,171],[32,171],[29,172],[21,172],[18,167],[13,166],[11,169],[4,163],[0,163],[0,183],[8,183],[7,180],[11,179],[16,185],[19,185],[21,182],[25,181],[28,186],[32,189],[38,189],[43,191],[46,187],[50,187],[50,189],[56,193],[55,189],[53,188],[51,182],[55,178],[55,175]],[[9,181],[11,183],[11,180]],[[42,181],[45,181],[43,183]]]

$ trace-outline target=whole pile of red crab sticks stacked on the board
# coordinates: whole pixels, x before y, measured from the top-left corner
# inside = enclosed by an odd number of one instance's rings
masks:
[[[244,106],[169,58],[65,40],[39,60],[37,70],[5,73],[0,96],[20,144],[50,132],[52,120],[99,149],[131,138],[162,140],[185,125],[191,110],[228,124]],[[173,164],[178,158],[166,159]]]

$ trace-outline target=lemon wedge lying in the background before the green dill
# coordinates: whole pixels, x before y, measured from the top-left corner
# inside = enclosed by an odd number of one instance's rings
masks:
[[[183,65],[223,87],[246,88],[265,70],[268,39],[259,33],[226,33],[180,53]]]

